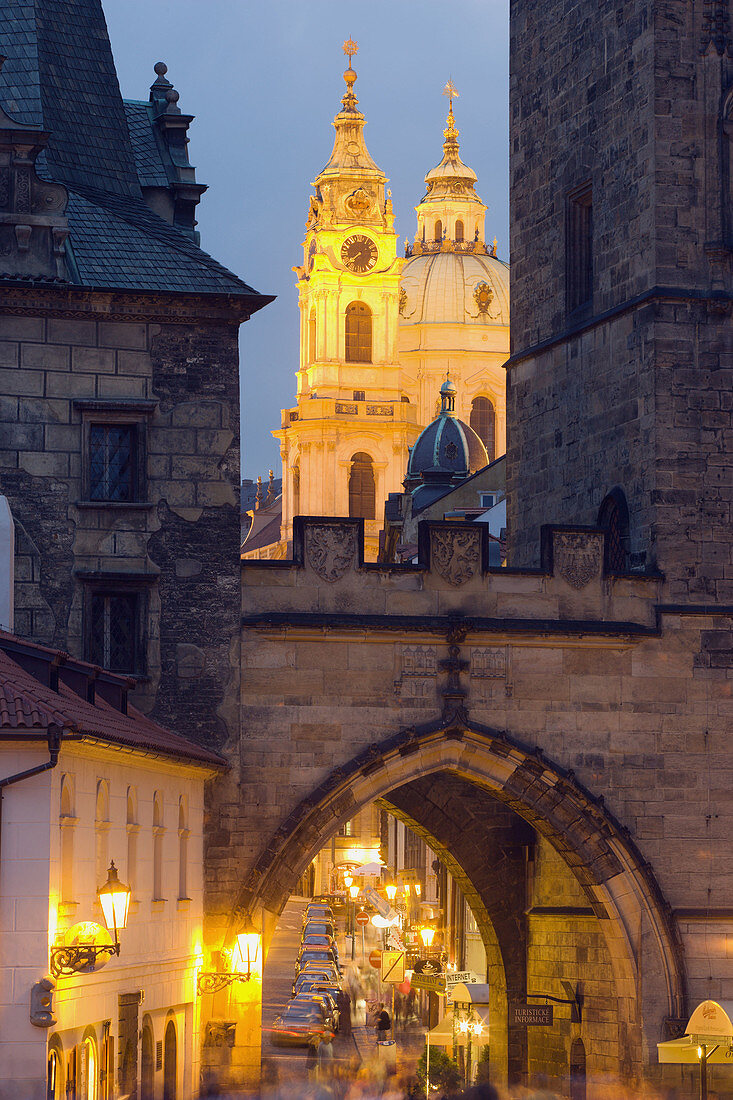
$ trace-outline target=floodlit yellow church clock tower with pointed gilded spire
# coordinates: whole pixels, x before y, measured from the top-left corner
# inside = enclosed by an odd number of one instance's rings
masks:
[[[300,307],[297,404],[283,410],[281,548],[293,517],[358,516],[375,557],[381,503],[400,487],[419,432],[397,362],[400,273],[387,178],[364,143],[352,42],[336,140],[316,177],[295,268]]]

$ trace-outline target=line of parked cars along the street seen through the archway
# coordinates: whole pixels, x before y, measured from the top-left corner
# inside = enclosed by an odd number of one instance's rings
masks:
[[[341,967],[336,917],[328,901],[314,899],[303,913],[293,998],[275,1018],[275,1046],[308,1046],[339,1030]]]

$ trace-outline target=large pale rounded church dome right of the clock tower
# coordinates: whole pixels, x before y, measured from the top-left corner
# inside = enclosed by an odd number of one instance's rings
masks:
[[[400,324],[508,326],[508,264],[490,253],[413,255],[400,280]]]

